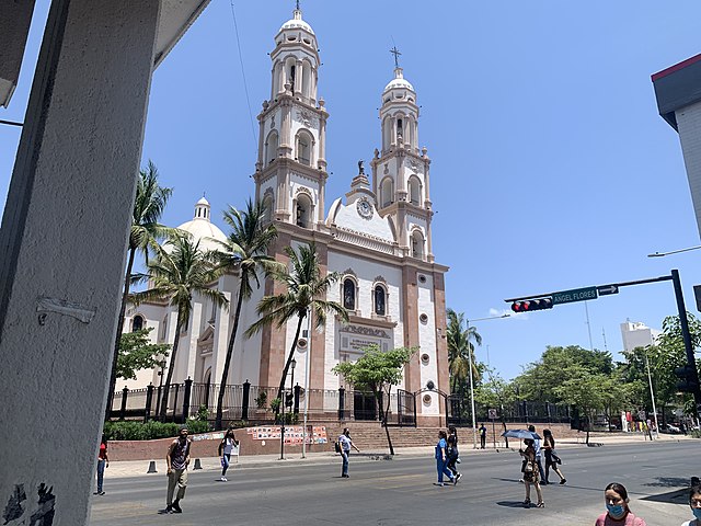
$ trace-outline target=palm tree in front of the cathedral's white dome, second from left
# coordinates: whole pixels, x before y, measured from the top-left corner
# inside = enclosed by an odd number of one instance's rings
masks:
[[[189,322],[193,294],[210,298],[219,307],[228,306],[229,300],[219,290],[210,288],[211,283],[220,275],[220,271],[214,263],[212,254],[199,250],[199,241],[194,242],[189,236],[183,233],[171,236],[165,247],[157,249],[157,258],[149,261],[148,270],[152,286],[148,290],[134,294],[133,300],[139,304],[168,299],[171,306],[177,308],[171,364],[168,368],[161,397],[159,419],[163,421],[168,410],[168,393],[175,369],[180,333],[182,328],[187,327]]]

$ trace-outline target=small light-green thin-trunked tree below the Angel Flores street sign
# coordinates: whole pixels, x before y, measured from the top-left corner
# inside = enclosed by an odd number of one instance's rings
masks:
[[[608,377],[602,374],[591,373],[583,365],[571,365],[562,371],[560,387],[554,389],[554,393],[560,399],[582,411],[587,419],[587,437],[589,444],[589,431],[597,410],[602,410],[606,405],[605,389],[610,387]]]

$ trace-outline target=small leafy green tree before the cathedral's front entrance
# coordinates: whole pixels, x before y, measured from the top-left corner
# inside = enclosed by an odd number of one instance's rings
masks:
[[[375,395],[377,407],[382,416],[382,425],[387,433],[387,443],[390,455],[394,455],[390,427],[387,425],[387,415],[390,410],[390,391],[404,376],[404,366],[412,358],[418,347],[399,347],[382,352],[378,345],[368,345],[363,348],[364,354],[355,363],[343,362],[332,370],[336,375],[343,375],[345,380],[355,389],[369,390]],[[387,404],[384,403],[387,400]]]

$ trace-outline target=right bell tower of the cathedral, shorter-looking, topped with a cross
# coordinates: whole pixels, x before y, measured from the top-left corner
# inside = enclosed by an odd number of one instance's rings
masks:
[[[394,78],[382,92],[382,147],[375,150],[371,161],[372,190],[378,211],[392,220],[404,254],[433,262],[430,159],[426,148],[418,148],[416,91],[399,66],[401,53],[397,47],[390,53],[394,55]]]

